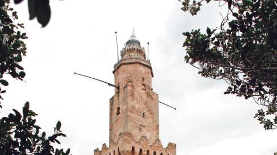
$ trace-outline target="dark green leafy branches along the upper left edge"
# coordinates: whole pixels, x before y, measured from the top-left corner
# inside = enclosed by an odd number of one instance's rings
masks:
[[[28,37],[26,37],[26,33],[20,31],[20,28],[24,28],[23,23],[15,23],[15,20],[18,19],[17,12],[13,8],[9,8],[9,2],[9,0],[0,1],[0,28],[2,29],[0,31],[0,94],[6,92],[1,90],[3,85],[8,85],[8,81],[3,79],[3,75],[11,75],[19,80],[23,80],[25,77],[24,69],[19,62],[27,53],[23,40]],[[3,100],[1,95],[0,99]]]

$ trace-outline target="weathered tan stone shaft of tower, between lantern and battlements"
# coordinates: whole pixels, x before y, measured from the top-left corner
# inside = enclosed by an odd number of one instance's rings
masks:
[[[150,62],[139,58],[121,59],[115,66],[115,95],[110,99],[110,143],[121,132],[131,132],[150,142],[159,139],[158,95],[152,91]]]

